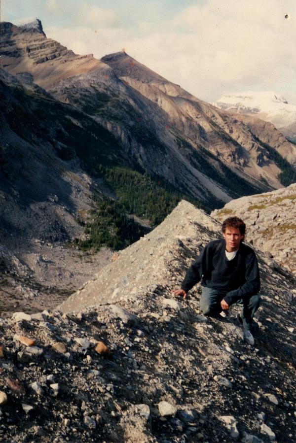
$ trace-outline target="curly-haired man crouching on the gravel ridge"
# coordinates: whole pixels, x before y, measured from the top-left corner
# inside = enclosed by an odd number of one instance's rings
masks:
[[[186,298],[187,292],[201,280],[200,309],[204,315],[218,315],[233,303],[242,304],[244,339],[253,345],[250,330],[259,307],[260,278],[255,252],[242,242],[245,231],[243,220],[226,218],[222,224],[223,239],[205,246],[188,269],[181,289],[172,292]]]

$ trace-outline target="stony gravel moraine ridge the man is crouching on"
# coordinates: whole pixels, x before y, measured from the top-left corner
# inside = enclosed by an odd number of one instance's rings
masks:
[[[57,310],[0,320],[0,439],[295,442],[295,277],[259,254],[255,347],[185,269],[220,224],[187,202]]]

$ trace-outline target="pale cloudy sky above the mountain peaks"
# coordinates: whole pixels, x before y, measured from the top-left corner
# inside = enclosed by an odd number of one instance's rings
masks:
[[[0,1],[2,21],[37,17],[48,38],[99,59],[124,48],[206,102],[273,91],[296,104],[295,0]]]

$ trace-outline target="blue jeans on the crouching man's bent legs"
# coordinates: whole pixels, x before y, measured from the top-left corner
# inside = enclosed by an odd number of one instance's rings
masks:
[[[204,315],[218,315],[222,311],[220,303],[226,293],[226,291],[203,287],[199,301],[202,313]],[[260,296],[258,294],[250,297],[245,296],[244,299],[239,299],[236,303],[243,305],[241,313],[243,328],[250,331],[254,314],[260,305]]]

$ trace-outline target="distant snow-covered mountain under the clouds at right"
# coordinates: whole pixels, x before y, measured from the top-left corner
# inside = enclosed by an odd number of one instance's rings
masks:
[[[272,123],[284,136],[296,139],[296,105],[274,92],[242,92],[222,96],[213,103],[220,109],[252,115]]]

